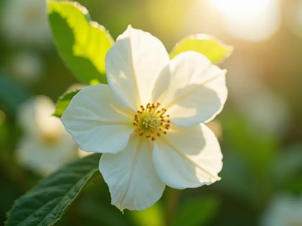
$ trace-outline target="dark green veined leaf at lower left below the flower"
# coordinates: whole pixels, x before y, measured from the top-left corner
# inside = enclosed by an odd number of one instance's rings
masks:
[[[99,175],[101,154],[89,155],[60,168],[16,200],[7,226],[49,226],[61,219],[84,187]]]

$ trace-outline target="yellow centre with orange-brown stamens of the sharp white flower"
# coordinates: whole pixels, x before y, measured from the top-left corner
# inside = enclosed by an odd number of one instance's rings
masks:
[[[137,115],[134,115],[133,125],[137,127],[134,131],[152,141],[155,137],[165,135],[170,127],[169,115],[165,115],[167,110],[160,109],[159,106],[160,103],[148,103],[146,107],[140,106]]]

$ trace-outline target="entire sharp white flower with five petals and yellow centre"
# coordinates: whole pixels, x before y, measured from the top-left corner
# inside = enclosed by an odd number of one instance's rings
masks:
[[[226,101],[225,70],[198,52],[169,60],[162,42],[128,26],[106,55],[108,85],[82,89],[61,118],[99,168],[120,210],[152,206],[165,185],[219,180],[222,154],[203,124]]]

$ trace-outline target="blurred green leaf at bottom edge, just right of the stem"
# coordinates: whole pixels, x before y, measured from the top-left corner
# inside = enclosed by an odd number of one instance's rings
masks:
[[[220,202],[216,197],[197,197],[182,205],[176,212],[173,226],[198,226],[206,225],[215,217],[218,212]]]

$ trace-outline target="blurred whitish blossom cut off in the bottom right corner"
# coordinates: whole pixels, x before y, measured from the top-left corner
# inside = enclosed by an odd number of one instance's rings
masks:
[[[287,194],[275,197],[264,212],[260,225],[302,225],[302,197],[294,197]]]

